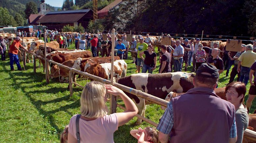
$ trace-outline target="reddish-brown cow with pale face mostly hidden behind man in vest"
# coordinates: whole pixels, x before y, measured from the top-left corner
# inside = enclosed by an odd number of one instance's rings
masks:
[[[218,95],[221,99],[227,101],[225,89],[226,89],[226,87],[216,88],[216,89],[214,90],[214,92],[215,92],[216,95]],[[170,101],[171,98],[174,98],[174,97],[179,96],[179,95],[182,95],[182,94],[184,94],[184,93],[170,92],[170,93],[166,96],[165,100],[166,100],[166,101]],[[161,108],[162,108],[162,110],[165,110],[165,109],[166,109],[164,106],[161,106]]]

